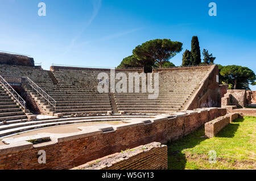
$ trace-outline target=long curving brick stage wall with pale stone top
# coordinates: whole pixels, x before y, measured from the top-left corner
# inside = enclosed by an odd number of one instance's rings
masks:
[[[8,145],[0,146],[0,169],[72,169],[139,145],[177,140],[224,115],[223,108],[177,112],[113,127],[85,127],[81,132],[53,135],[40,144],[5,138]],[[37,139],[42,139],[42,135]],[[38,162],[40,150],[46,153],[46,163]]]

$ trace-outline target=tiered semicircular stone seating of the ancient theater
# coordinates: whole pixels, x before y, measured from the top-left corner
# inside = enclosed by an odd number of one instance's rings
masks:
[[[43,106],[42,109],[53,113],[62,113],[64,116],[75,113],[105,114],[108,111],[170,113],[184,109],[187,100],[197,89],[209,68],[209,66],[205,66],[201,69],[160,71],[159,96],[156,99],[148,99],[148,93],[142,92],[100,94],[97,91],[97,76],[102,70],[97,69],[59,68],[50,72],[31,66],[0,65],[0,75],[29,77],[56,100],[56,110],[53,107]],[[105,71],[110,77],[110,70],[106,69]],[[129,72],[133,71],[126,70],[127,77],[129,77]],[[54,76],[55,80],[51,76]],[[116,79],[115,82],[118,82],[118,80]],[[26,90],[33,91],[31,89]],[[1,87],[0,92],[0,121],[7,120],[7,117],[9,117],[9,120],[25,119],[22,111],[16,107],[10,97],[7,98],[6,92]]]

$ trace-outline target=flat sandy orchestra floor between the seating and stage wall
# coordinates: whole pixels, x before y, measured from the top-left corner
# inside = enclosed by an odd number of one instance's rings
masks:
[[[92,125],[98,125],[98,124],[110,124],[110,125],[118,125],[118,124],[125,124],[122,121],[115,121],[115,122],[99,122],[99,123],[81,123],[81,124],[70,124],[70,125],[61,125],[51,128],[43,128],[38,129],[35,131],[29,131],[25,133],[15,134],[14,136],[9,136],[9,138],[18,138],[18,137],[24,137],[24,136],[32,136],[38,133],[57,133],[57,134],[63,134],[63,133],[76,133],[80,132],[81,130],[78,129],[78,127],[89,127]],[[0,141],[0,145],[1,145]]]

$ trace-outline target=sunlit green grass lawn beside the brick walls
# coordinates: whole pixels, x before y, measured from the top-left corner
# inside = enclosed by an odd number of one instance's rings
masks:
[[[168,169],[256,169],[256,117],[237,119],[216,137],[204,137],[204,127],[168,144]],[[210,150],[217,153],[209,163]]]

